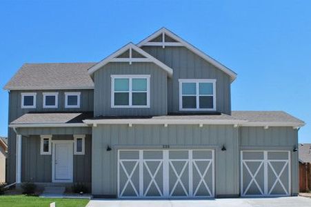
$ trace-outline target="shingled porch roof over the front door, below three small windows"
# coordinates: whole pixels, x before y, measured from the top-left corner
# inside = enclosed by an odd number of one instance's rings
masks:
[[[82,120],[91,117],[92,112],[29,112],[12,121],[10,127],[85,126]]]

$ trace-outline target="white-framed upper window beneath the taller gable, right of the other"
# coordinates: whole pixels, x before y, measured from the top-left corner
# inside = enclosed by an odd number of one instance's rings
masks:
[[[216,80],[179,79],[179,110],[216,110]]]

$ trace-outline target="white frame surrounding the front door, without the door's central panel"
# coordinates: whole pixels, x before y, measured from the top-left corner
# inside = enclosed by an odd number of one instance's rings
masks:
[[[52,140],[52,182],[53,183],[72,183],[73,181],[73,149],[72,149],[72,157],[70,161],[70,179],[55,179],[55,144],[72,144],[73,146],[73,140]]]

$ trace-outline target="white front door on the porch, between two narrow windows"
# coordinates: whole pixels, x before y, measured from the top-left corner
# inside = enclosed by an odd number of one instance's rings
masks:
[[[52,155],[53,182],[72,182],[72,141],[54,141]]]

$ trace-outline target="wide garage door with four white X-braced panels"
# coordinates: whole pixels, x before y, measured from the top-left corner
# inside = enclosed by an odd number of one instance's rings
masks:
[[[214,197],[214,151],[119,150],[118,196]]]

